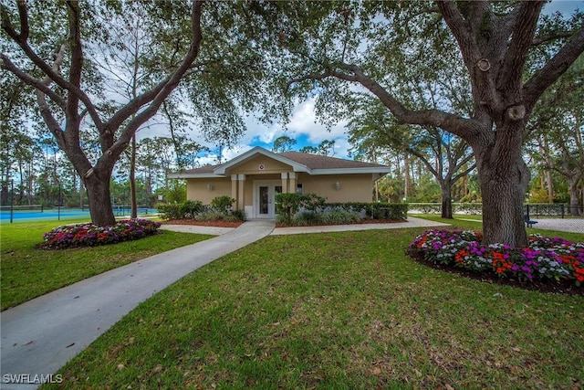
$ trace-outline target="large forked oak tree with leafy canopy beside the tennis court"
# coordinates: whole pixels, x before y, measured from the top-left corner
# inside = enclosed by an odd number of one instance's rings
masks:
[[[172,93],[180,95],[183,107],[178,110],[195,117],[206,139],[232,144],[244,131],[242,114],[265,100],[256,82],[263,73],[261,56],[245,34],[246,6],[203,1],[3,2],[2,68],[36,90],[38,111],[88,189],[93,223],[115,222],[110,203],[115,164],[135,132]],[[122,16],[136,9],[141,10],[145,43],[140,56],[129,47],[131,39],[119,34],[124,28],[135,32],[135,24],[126,23],[132,18]],[[120,80],[138,81],[126,83],[132,86],[130,99],[128,93],[115,93],[111,77],[128,68],[120,66],[128,58],[143,69],[120,75]],[[89,156],[81,132],[92,132],[98,140],[97,158]]]

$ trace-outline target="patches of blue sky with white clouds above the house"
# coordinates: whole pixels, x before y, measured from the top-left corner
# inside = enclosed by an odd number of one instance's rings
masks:
[[[544,13],[561,12],[562,14],[570,15],[575,9],[584,9],[584,0],[553,0],[544,7]],[[224,149],[222,161],[234,158],[236,155],[245,153],[245,151],[255,147],[262,146],[266,149],[271,149],[272,142],[282,135],[287,135],[290,138],[297,140],[296,150],[303,146],[311,145],[317,146],[323,140],[335,141],[335,157],[347,158],[350,149],[347,140],[348,135],[345,129],[346,123],[338,123],[332,129],[327,129],[326,126],[319,124],[315,111],[314,100],[307,100],[300,103],[293,112],[290,121],[287,123],[285,131],[279,124],[266,125],[256,121],[254,118],[248,118],[246,121],[247,132],[244,137],[233,149]],[[197,141],[202,139],[200,135],[197,136],[197,131],[193,131],[193,139]],[[201,142],[201,141],[198,141]],[[203,143],[203,142],[201,142]],[[214,145],[208,145],[212,150]],[[200,163],[214,163],[216,155],[203,157]]]

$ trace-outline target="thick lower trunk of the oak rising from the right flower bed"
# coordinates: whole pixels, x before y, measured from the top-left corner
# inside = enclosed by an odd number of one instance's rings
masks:
[[[519,157],[509,163],[506,172],[498,172],[502,165],[489,162],[484,154],[475,153],[481,193],[483,197],[484,244],[508,244],[513,248],[527,247],[524,220],[529,170]]]

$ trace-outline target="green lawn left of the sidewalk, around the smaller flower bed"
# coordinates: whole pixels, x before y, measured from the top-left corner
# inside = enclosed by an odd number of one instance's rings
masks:
[[[87,220],[68,221],[68,223]],[[95,248],[42,250],[43,234],[62,222],[21,222],[0,227],[2,310],[132,261],[212,237],[161,230],[161,234]]]

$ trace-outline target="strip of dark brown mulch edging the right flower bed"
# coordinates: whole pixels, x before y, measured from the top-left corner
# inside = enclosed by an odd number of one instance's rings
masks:
[[[419,252],[407,250],[406,253],[416,262],[433,269],[439,269],[463,278],[480,280],[485,283],[499,284],[504,286],[516,287],[523,290],[535,290],[539,292],[570,294],[584,296],[584,285],[577,286],[574,280],[542,280],[535,279],[534,281],[520,281],[513,278],[489,278],[483,272],[472,271],[468,269],[461,269],[455,266],[448,266],[443,264],[434,264],[423,259],[423,255]]]

